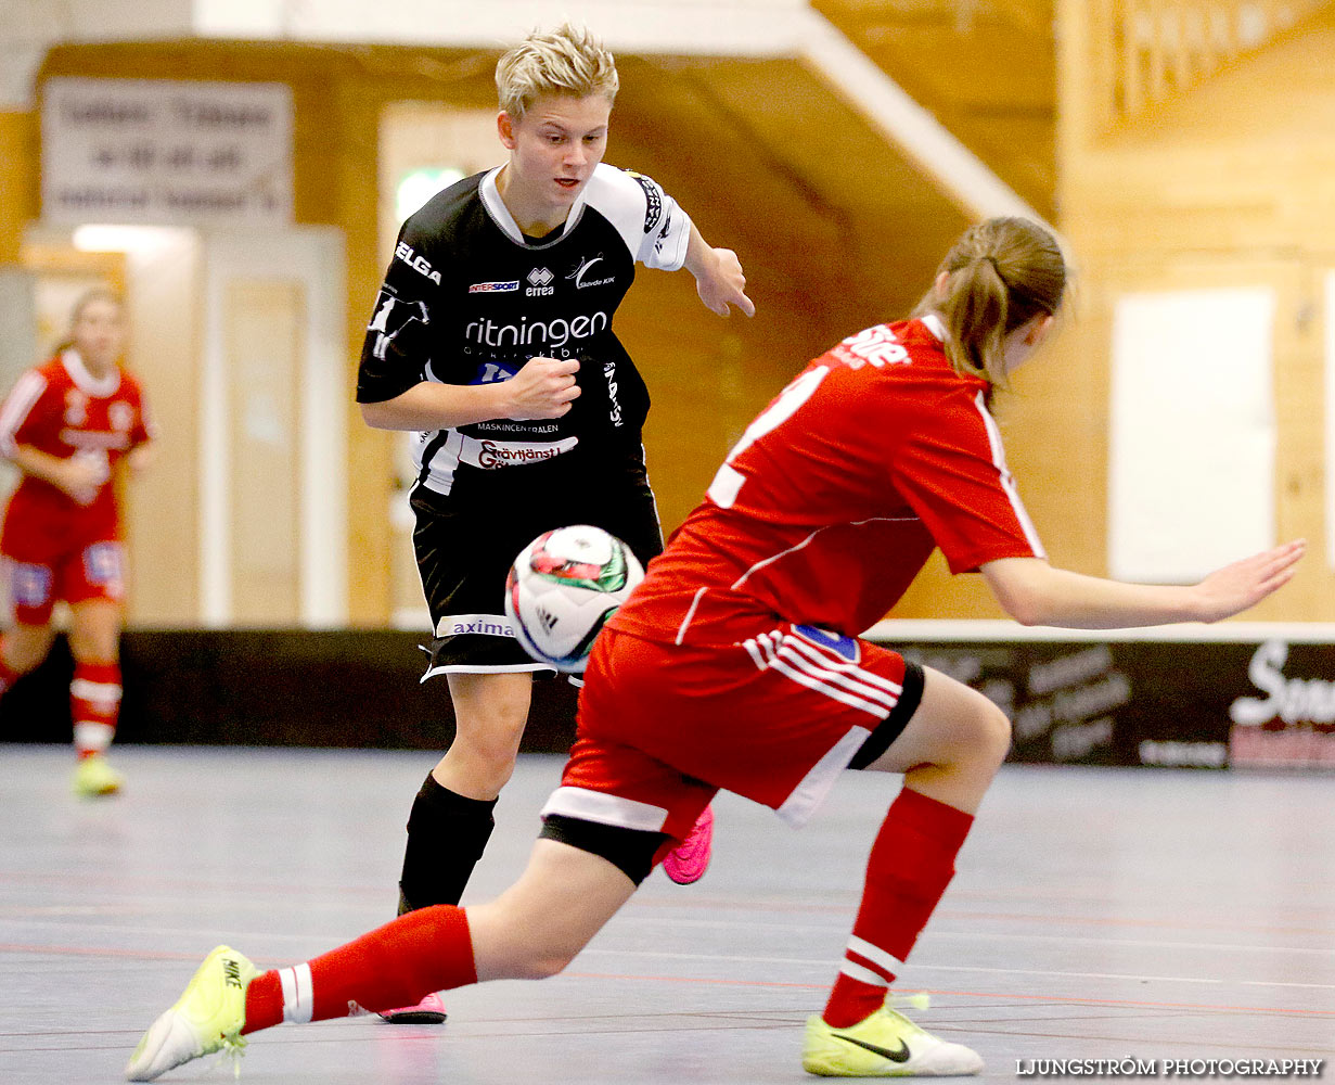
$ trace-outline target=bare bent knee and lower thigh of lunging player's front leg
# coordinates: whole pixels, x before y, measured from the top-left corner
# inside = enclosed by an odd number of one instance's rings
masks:
[[[922,668],[922,698],[898,738],[872,771],[908,772],[921,766],[979,766],[995,770],[1011,746],[1011,722],[977,689]]]

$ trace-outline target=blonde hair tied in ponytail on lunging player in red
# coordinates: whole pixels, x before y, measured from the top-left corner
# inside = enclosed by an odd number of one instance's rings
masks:
[[[1005,335],[1061,307],[1067,265],[1057,239],[1029,219],[987,219],[964,231],[937,278],[943,273],[944,295],[933,287],[914,315],[940,314],[956,371],[1005,388]]]

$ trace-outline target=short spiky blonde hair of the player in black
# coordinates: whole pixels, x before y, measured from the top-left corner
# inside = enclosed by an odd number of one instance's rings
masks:
[[[617,61],[587,28],[534,31],[497,63],[501,108],[515,120],[542,95],[617,98]]]

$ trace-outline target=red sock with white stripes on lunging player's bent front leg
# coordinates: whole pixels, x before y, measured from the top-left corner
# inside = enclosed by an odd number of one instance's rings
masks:
[[[905,787],[866,861],[862,903],[822,1017],[836,1029],[880,1009],[904,959],[955,877],[973,815]]]

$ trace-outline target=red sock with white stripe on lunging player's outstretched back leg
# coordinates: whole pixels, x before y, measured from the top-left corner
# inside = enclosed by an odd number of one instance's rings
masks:
[[[413,1006],[431,991],[477,982],[463,909],[434,905],[304,965],[256,975],[246,990],[242,1032]]]

